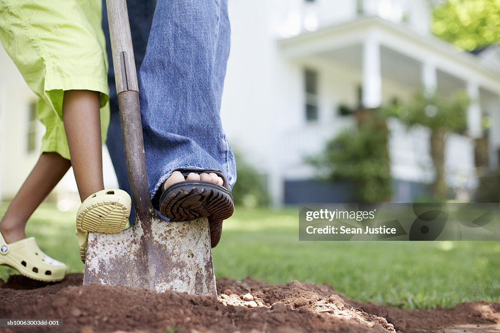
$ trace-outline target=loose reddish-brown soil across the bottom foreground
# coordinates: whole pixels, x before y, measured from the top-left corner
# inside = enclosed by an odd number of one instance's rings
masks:
[[[500,332],[500,303],[408,311],[361,304],[327,285],[297,281],[269,285],[218,279],[217,299],[81,284],[81,274],[69,274],[56,284],[10,276],[0,282],[0,318],[63,319],[64,326],[0,328],[0,332]]]

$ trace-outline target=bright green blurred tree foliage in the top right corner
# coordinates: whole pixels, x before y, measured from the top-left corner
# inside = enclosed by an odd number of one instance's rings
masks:
[[[500,0],[447,0],[433,10],[432,30],[464,50],[500,42]]]

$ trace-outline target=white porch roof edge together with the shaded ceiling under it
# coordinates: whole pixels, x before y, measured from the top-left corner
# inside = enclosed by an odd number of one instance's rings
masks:
[[[419,86],[421,65],[431,62],[438,70],[438,84],[456,86],[472,80],[487,90],[500,91],[500,74],[484,67],[475,56],[459,52],[432,35],[416,34],[404,25],[379,17],[358,18],[281,39],[278,44],[283,54],[290,59],[323,57],[360,70],[363,42],[372,37],[381,46],[383,77],[409,86]]]

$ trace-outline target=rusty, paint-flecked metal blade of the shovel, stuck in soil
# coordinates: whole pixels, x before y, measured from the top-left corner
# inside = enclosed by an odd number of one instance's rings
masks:
[[[83,284],[216,297],[208,220],[150,222],[150,230],[136,220],[119,234],[89,233]]]

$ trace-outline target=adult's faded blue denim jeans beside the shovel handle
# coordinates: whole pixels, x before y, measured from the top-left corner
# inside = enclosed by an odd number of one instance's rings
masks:
[[[232,187],[234,155],[219,116],[229,53],[227,0],[128,2],[151,198],[178,168],[219,169]],[[111,65],[109,85],[106,144],[119,186],[130,192]]]

